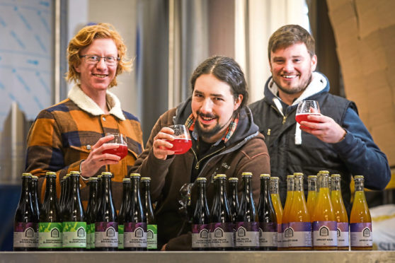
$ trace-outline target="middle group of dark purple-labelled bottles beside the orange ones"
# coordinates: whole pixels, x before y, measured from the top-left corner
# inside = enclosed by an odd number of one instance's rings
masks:
[[[270,175],[261,175],[261,197],[256,208],[251,173],[243,173],[243,194],[237,196],[238,178],[214,176],[214,201],[208,209],[204,177],[197,178],[199,195],[193,214],[193,250],[277,250],[277,218],[269,194]]]

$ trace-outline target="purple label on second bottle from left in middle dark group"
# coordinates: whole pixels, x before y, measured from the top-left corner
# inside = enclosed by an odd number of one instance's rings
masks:
[[[210,223],[211,247],[234,247],[232,223]]]

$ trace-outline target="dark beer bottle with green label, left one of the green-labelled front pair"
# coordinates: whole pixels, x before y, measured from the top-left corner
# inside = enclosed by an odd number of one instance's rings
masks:
[[[45,198],[38,223],[38,248],[45,251],[62,249],[62,219],[56,195],[56,173],[45,173]]]

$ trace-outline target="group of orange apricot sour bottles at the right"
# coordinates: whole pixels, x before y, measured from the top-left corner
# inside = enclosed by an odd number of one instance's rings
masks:
[[[372,220],[363,192],[363,176],[354,177],[358,187],[350,225],[341,197],[340,180],[340,175],[329,177],[328,171],[320,171],[318,177],[309,176],[305,202],[303,174],[287,176],[279,250],[372,250]]]

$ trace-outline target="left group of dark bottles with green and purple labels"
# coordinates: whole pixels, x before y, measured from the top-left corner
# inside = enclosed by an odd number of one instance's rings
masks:
[[[139,174],[123,180],[119,214],[113,205],[111,173],[89,178],[86,211],[80,199],[79,172],[71,172],[61,182],[59,202],[56,173],[47,172],[45,177],[45,199],[38,209],[37,177],[22,175],[23,189],[14,222],[15,251],[156,250],[149,177],[141,178],[142,197]]]

